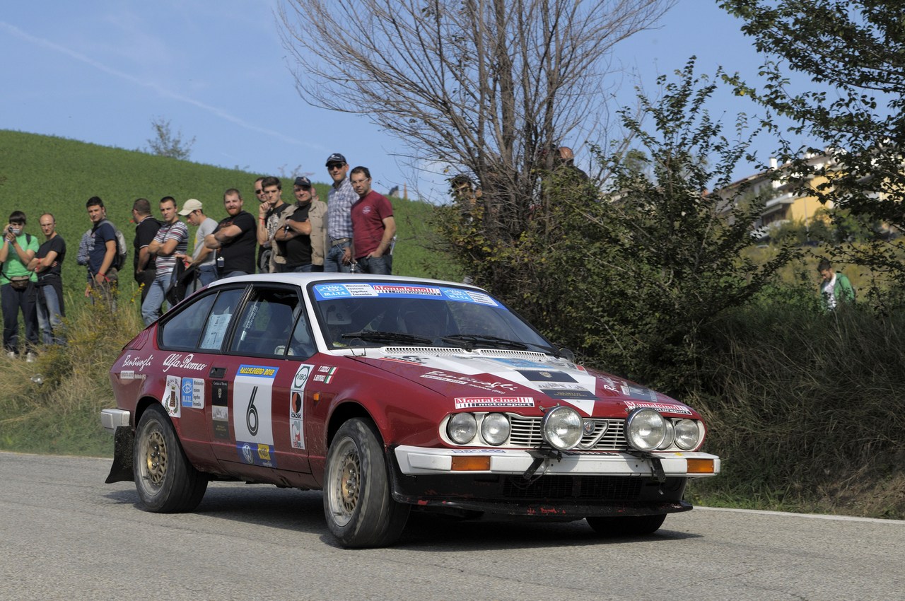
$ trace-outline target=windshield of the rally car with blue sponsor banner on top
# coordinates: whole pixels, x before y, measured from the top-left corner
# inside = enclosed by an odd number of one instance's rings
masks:
[[[342,281],[311,291],[329,348],[455,347],[554,352],[486,292],[430,283]]]

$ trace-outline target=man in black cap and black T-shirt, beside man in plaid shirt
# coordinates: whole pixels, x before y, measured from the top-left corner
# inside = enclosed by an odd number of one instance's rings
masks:
[[[273,262],[279,272],[312,272],[324,264],[327,205],[316,197],[308,177],[296,177],[295,204],[283,211],[273,234]]]

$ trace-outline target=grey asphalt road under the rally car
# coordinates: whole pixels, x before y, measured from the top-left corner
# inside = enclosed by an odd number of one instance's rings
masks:
[[[902,599],[905,521],[696,509],[655,535],[414,516],[345,550],[319,492],[213,483],[139,510],[110,460],[0,453],[0,599]]]

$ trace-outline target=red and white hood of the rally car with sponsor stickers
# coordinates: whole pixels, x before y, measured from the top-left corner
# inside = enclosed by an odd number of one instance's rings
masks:
[[[697,414],[669,396],[622,377],[543,353],[454,348],[367,348],[357,360],[452,398],[456,409],[510,409],[572,405],[586,416],[624,416],[650,406],[663,414]]]

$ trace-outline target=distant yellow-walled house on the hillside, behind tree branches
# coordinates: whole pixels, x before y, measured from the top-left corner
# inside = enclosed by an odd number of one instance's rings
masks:
[[[818,169],[834,165],[833,157],[825,153],[809,153],[805,155],[805,160],[808,165]],[[739,203],[751,202],[757,198],[763,201],[764,208],[752,224],[752,235],[757,239],[766,238],[772,228],[781,224],[807,225],[814,219],[824,219],[818,212],[833,208],[832,203],[822,205],[816,196],[796,193],[796,186],[788,181],[794,175],[790,173],[791,168],[789,163],[778,165],[776,158],[771,157],[770,167],[766,171],[739,179],[725,188],[715,190],[713,194],[726,201],[723,208],[725,215]],[[815,189],[824,182],[825,176],[811,176],[808,185]]]

